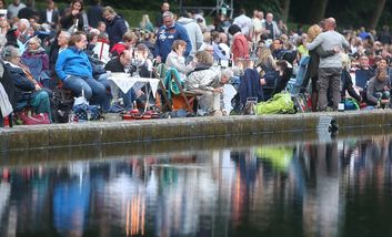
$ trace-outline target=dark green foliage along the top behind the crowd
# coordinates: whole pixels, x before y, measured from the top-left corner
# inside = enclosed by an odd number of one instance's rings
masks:
[[[39,9],[44,9],[44,0],[36,0]],[[64,8],[70,0],[59,0],[57,2],[59,8]],[[92,0],[84,0],[87,4],[91,4]],[[291,0],[289,21],[300,24],[312,24],[309,22],[310,6],[313,1],[318,0]],[[7,1],[8,3],[10,2]],[[174,12],[179,11],[179,0],[169,0],[171,9]],[[215,7],[215,1],[211,0],[182,0],[184,6],[193,7]],[[225,2],[230,2],[229,0]],[[369,21],[374,13],[375,4],[378,1],[368,0],[329,0],[325,16],[334,17],[340,28],[359,28],[368,25]],[[129,21],[131,27],[137,27],[141,20],[141,16],[148,13],[150,20],[154,22],[157,13],[160,11],[161,0],[145,1],[145,0],[102,0],[103,6],[112,6],[119,13],[123,14]],[[280,19],[282,14],[282,0],[247,0],[234,1],[234,16],[238,14],[241,8],[247,9],[248,16],[252,14],[253,9],[259,9],[264,12],[273,12],[275,19]],[[207,14],[209,10],[204,11]],[[207,16],[213,17],[213,16]],[[385,9],[380,18],[379,27],[392,23],[392,0],[386,0]]]

